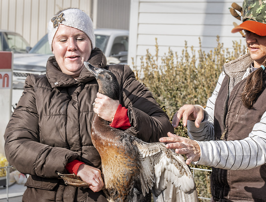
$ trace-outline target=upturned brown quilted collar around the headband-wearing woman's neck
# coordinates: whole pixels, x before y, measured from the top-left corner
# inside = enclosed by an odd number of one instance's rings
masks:
[[[88,60],[94,67],[98,68],[105,68],[106,66],[106,57],[103,55],[103,52],[95,48]],[[66,86],[73,86],[73,85],[81,85],[86,83],[90,80],[93,80],[95,77],[92,73],[90,73],[85,66],[80,72],[79,78],[77,80],[73,79],[72,76],[64,74],[60,67],[58,66],[55,56],[52,56],[47,61],[46,66],[46,77],[51,84],[52,88],[55,87],[66,87]]]

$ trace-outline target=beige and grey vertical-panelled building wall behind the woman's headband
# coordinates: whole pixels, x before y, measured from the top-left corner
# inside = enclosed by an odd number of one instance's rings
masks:
[[[67,8],[83,10],[94,28],[129,29],[130,0],[0,0],[0,29],[15,31],[34,46],[52,17]]]

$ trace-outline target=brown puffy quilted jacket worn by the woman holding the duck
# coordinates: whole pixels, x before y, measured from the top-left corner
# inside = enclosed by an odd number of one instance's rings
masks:
[[[146,142],[173,132],[168,116],[127,65],[105,66],[99,49],[93,50],[88,62],[117,76],[120,104],[128,108],[132,126],[126,132]],[[106,201],[102,192],[65,186],[56,173],[67,173],[65,165],[74,159],[101,169],[90,137],[97,92],[97,81],[86,68],[74,80],[61,72],[55,57],[49,58],[46,75],[27,77],[5,132],[9,163],[30,174],[23,201]]]

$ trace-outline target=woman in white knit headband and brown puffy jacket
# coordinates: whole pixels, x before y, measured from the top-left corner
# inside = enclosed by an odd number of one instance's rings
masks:
[[[30,174],[23,201],[106,202],[101,158],[91,140],[94,114],[146,142],[159,141],[158,134],[173,132],[173,127],[127,65],[106,66],[102,51],[95,48],[93,23],[86,13],[62,11],[49,22],[48,36],[55,56],[48,59],[46,75],[26,79],[6,129],[6,157],[18,171]],[[119,100],[98,93],[84,61],[115,74]],[[90,186],[68,186],[57,172],[75,173]]]

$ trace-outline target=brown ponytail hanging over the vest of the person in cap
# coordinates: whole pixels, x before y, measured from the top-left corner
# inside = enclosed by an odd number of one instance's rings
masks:
[[[241,98],[244,106],[248,109],[252,108],[264,88],[262,80],[263,72],[263,68],[260,67],[247,76]]]

